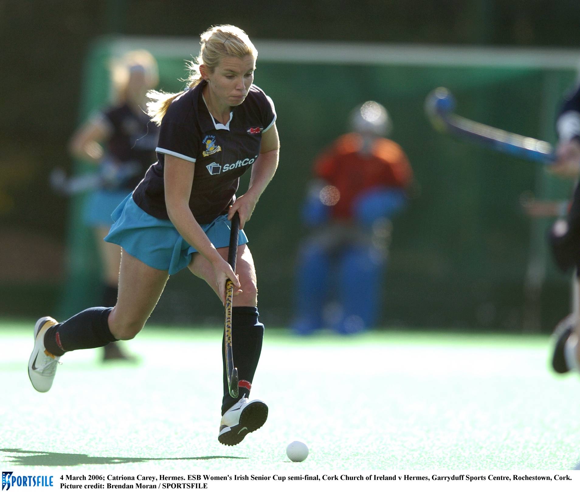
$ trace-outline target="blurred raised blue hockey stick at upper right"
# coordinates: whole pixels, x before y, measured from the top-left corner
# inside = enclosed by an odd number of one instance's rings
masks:
[[[439,87],[430,92],[425,100],[425,112],[432,125],[440,132],[478,143],[485,147],[510,154],[521,159],[550,164],[556,157],[548,142],[523,137],[483,123],[468,120],[453,113],[455,99],[451,92]]]

